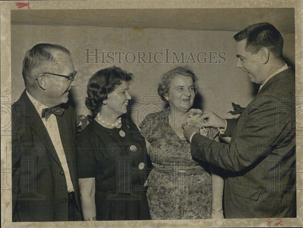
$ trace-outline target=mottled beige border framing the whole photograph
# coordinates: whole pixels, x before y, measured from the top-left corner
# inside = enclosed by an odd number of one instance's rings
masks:
[[[302,6],[300,1],[260,1],[254,3],[245,1],[205,1],[205,0],[112,0],[112,1],[1,1],[1,103],[12,103],[11,97],[11,22],[10,11],[33,9],[98,9],[98,8],[294,8],[295,9],[295,74],[296,96],[303,96],[303,32],[302,32]],[[28,5],[26,5],[28,3]],[[302,100],[303,101],[303,100]],[[1,108],[1,125],[10,122],[9,110]],[[4,117],[4,118],[2,118]],[[303,116],[297,117],[297,122],[303,123]],[[303,135],[296,135],[297,152],[303,151]],[[81,222],[39,222],[39,223],[12,223],[11,198],[12,191],[7,189],[11,183],[9,132],[1,132],[1,225],[2,227],[278,227],[277,218],[262,219],[224,219],[224,220],[148,220],[148,221],[81,221]],[[297,218],[283,218],[284,227],[302,227],[303,224],[303,156],[297,153]],[[269,220],[271,222],[269,222]],[[268,225],[269,224],[269,225]]]

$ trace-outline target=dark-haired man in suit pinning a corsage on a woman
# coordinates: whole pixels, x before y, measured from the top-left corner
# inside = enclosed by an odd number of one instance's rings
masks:
[[[295,73],[282,59],[283,38],[269,23],[238,32],[234,39],[237,68],[261,84],[238,119],[205,112],[204,126],[225,129],[230,144],[218,143],[199,129],[182,125],[196,146],[195,157],[228,170],[225,180],[226,218],[296,217]],[[224,130],[223,130],[224,131]]]

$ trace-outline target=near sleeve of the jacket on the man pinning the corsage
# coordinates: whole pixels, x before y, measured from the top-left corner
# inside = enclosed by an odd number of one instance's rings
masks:
[[[280,143],[283,136],[277,125],[288,126],[287,112],[277,111],[279,99],[262,96],[250,105],[244,119],[232,134],[230,144],[218,143],[195,134],[191,143],[196,147],[195,157],[230,171],[240,171],[264,159],[262,145]],[[279,122],[278,122],[279,120]],[[279,141],[280,140],[280,141]],[[276,149],[271,147],[270,151]]]

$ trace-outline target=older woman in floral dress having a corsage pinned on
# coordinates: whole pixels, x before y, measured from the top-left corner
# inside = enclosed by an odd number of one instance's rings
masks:
[[[149,155],[154,166],[147,179],[153,220],[224,218],[223,179],[211,175],[207,166],[195,161],[195,149],[182,140],[181,124],[186,123],[193,105],[196,80],[187,67],[166,72],[158,94],[169,106],[147,115],[139,126],[150,143]]]

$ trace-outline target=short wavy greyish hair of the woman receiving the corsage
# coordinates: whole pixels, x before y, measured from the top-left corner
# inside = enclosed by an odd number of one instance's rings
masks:
[[[171,80],[176,76],[176,75],[183,75],[183,76],[189,76],[192,78],[192,81],[194,82],[194,89],[195,93],[196,90],[198,89],[198,85],[196,81],[198,80],[197,76],[192,72],[188,66],[178,66],[175,69],[172,69],[168,72],[166,72],[164,75],[161,77],[161,82],[159,83],[158,86],[158,95],[161,97],[163,101],[165,100],[165,95],[168,93],[168,90],[171,85]]]

